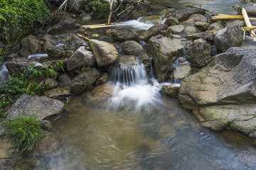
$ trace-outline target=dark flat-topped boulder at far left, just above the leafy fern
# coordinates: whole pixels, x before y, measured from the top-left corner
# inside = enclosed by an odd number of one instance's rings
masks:
[[[41,69],[42,67],[45,67],[45,65],[41,64],[40,62],[28,60],[26,58],[18,58],[11,60],[11,62],[6,62],[6,68],[8,69],[9,74],[24,74],[24,71],[28,69],[28,67]]]

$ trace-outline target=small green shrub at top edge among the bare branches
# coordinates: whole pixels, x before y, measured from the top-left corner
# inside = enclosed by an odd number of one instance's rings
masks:
[[[92,10],[95,11],[97,18],[107,18],[110,12],[110,6],[100,0],[92,1]]]

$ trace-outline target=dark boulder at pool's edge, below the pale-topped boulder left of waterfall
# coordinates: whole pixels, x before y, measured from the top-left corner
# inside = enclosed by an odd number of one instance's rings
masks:
[[[83,71],[72,80],[70,91],[72,94],[80,94],[82,91],[92,88],[100,73],[92,67],[89,71]]]

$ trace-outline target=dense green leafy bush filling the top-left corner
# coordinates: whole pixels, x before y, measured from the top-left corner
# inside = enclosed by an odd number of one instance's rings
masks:
[[[1,0],[0,41],[14,45],[28,35],[32,28],[43,26],[50,11],[43,0]],[[0,47],[0,56],[4,53]]]

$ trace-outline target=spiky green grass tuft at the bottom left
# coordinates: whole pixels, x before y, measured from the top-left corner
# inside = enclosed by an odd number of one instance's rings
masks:
[[[11,147],[16,152],[30,152],[43,137],[43,128],[31,115],[21,115],[3,123],[4,132],[11,137]]]

